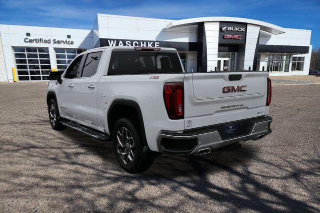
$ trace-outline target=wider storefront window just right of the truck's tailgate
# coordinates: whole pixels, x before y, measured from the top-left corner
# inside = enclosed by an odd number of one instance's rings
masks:
[[[268,72],[288,72],[290,55],[266,55],[265,62]]]

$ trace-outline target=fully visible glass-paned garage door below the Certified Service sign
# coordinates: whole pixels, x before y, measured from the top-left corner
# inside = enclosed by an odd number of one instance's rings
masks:
[[[13,47],[19,81],[47,80],[51,71],[46,47]]]

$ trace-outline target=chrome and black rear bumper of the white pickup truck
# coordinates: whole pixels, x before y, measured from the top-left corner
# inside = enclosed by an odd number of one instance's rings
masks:
[[[184,131],[183,133],[161,132],[157,138],[159,152],[185,155],[201,155],[211,150],[247,140],[258,140],[271,133],[269,116],[235,121],[246,123],[245,134],[223,139],[218,130],[221,125]]]

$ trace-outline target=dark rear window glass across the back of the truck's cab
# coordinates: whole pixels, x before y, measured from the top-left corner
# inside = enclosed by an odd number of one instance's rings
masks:
[[[108,75],[180,73],[181,64],[177,53],[113,51]]]

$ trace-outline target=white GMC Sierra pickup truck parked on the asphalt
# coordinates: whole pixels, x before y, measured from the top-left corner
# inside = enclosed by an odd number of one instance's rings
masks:
[[[90,49],[49,79],[51,127],[112,140],[129,173],[158,153],[207,154],[271,132],[267,72],[186,73],[173,48]]]

